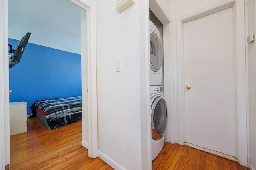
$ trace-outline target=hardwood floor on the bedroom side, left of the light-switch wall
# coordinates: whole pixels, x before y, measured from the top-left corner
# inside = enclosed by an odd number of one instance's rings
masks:
[[[34,117],[27,130],[10,137],[11,170],[113,170],[81,146],[82,121],[47,129]]]

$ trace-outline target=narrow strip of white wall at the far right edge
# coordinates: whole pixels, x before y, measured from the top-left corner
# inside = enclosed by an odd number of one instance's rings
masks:
[[[256,33],[255,0],[248,0],[248,33]],[[247,35],[246,35],[247,36]],[[249,167],[256,168],[256,43],[248,44]]]

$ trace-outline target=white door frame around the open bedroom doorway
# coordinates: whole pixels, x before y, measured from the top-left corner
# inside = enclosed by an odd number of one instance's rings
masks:
[[[82,49],[84,50],[84,53],[82,52],[82,59],[81,59],[81,63],[82,63],[82,84],[86,83],[87,86],[82,85],[82,98],[84,98],[84,96],[86,96],[86,98],[89,98],[89,100],[83,100],[83,103],[86,102],[86,104],[83,104],[83,106],[87,105],[88,107],[83,109],[86,110],[86,113],[88,113],[88,115],[83,114],[83,120],[85,120],[86,118],[84,118],[85,116],[88,117],[88,124],[84,123],[85,121],[83,121],[83,131],[82,131],[82,145],[84,147],[87,147],[88,149],[88,155],[91,158],[95,158],[97,157],[97,153],[98,153],[98,139],[97,139],[97,98],[96,98],[96,12],[95,12],[95,4],[92,4],[89,1],[80,1],[80,0],[69,0],[70,2],[72,2],[73,4],[77,5],[80,9],[84,10],[84,12],[86,13],[86,15],[84,15],[84,20],[81,21],[81,25],[84,25],[84,29],[83,31],[83,35],[81,35],[81,46]],[[85,14],[84,13],[84,14]],[[2,15],[3,14],[3,15]],[[4,16],[3,18],[8,18],[8,12],[1,12],[1,15]],[[90,18],[88,20],[88,17]],[[7,19],[6,19],[7,20]],[[2,35],[6,34],[4,30],[8,30],[8,28],[6,28],[7,26],[5,26],[5,29],[1,29],[1,37]],[[88,29],[90,27],[90,29]],[[83,37],[84,36],[84,37]],[[86,38],[86,39],[85,39]],[[8,42],[8,37],[5,37],[4,42]],[[4,46],[6,47],[6,46]],[[90,47],[90,50],[88,47]],[[4,51],[1,52],[2,54],[1,56],[1,60],[5,60],[6,63],[6,59],[3,59],[2,56],[6,55],[6,53]],[[88,62],[87,62],[88,61]],[[4,74],[5,72],[5,74]],[[4,72],[1,72],[1,75],[8,75],[8,66],[4,66]],[[88,74],[86,74],[88,73]],[[6,79],[4,79],[6,80]],[[88,83],[87,83],[88,82]],[[4,83],[4,82],[3,82]],[[8,84],[8,83],[7,83]],[[1,90],[6,91],[6,87],[7,86],[1,86]],[[7,94],[4,93],[5,96]],[[88,97],[87,97],[88,96]],[[1,105],[5,105],[8,106],[9,105],[9,98],[8,97],[4,97],[4,100],[1,100]],[[1,107],[2,108],[2,107]],[[8,109],[5,109],[6,112],[6,117],[8,117]],[[94,113],[94,114],[92,114]],[[2,114],[2,113],[1,113]],[[8,118],[6,118],[8,120]],[[5,125],[5,129],[8,129],[8,123],[6,123]],[[86,129],[86,130],[84,130]],[[87,133],[88,132],[88,133]],[[2,134],[1,134],[2,135]],[[8,136],[8,132],[5,131],[5,136]],[[5,138],[7,141],[8,139]],[[5,152],[4,152],[4,157],[5,157],[5,163],[4,164],[8,164],[10,163],[10,151],[8,151],[8,148],[10,148],[10,144],[9,142],[6,143],[5,145],[1,144],[1,146],[3,146],[3,148],[6,148]]]

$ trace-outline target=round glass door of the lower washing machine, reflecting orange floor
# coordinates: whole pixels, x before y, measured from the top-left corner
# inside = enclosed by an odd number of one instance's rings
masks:
[[[151,133],[155,140],[161,139],[167,126],[167,106],[164,98],[157,97],[151,106]]]

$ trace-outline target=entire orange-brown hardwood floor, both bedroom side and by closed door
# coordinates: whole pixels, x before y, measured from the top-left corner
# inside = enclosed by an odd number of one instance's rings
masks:
[[[113,170],[81,146],[82,121],[47,129],[37,118],[28,131],[10,137],[11,170]],[[132,162],[131,162],[132,164]],[[153,170],[248,170],[236,162],[187,146],[166,143]]]

